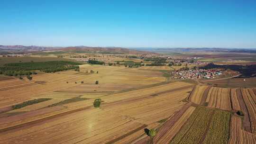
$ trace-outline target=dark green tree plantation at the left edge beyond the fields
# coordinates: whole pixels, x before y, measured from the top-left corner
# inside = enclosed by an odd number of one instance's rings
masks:
[[[49,62],[28,62],[28,63],[7,63],[0,66],[0,74],[8,76],[36,74],[35,70],[42,72],[59,72],[70,69],[77,69],[81,63],[70,61],[49,61]]]

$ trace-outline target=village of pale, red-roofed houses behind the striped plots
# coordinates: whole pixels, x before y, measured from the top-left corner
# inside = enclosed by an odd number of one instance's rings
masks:
[[[216,76],[221,75],[220,70],[185,70],[174,72],[174,79],[214,79]]]

